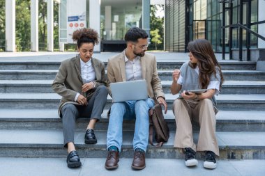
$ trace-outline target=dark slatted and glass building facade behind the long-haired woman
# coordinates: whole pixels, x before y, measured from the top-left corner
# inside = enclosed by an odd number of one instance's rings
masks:
[[[249,6],[249,1],[251,1]],[[229,25],[229,5],[232,2],[232,24],[238,24],[240,2],[243,8],[243,24],[248,20],[248,8],[251,9],[250,29],[264,35],[264,15],[259,15],[265,8],[264,1],[234,0],[223,3],[217,0],[166,0],[165,1],[165,50],[187,51],[188,42],[197,38],[206,38],[213,45],[215,52],[222,51],[222,26]],[[230,3],[229,3],[230,2]],[[223,14],[225,17],[223,18]],[[223,20],[225,19],[225,21]],[[223,23],[225,22],[225,23]],[[225,24],[225,25],[224,25]],[[243,48],[246,47],[247,32],[243,30]],[[229,28],[225,29],[225,51],[229,51]],[[239,48],[239,28],[232,29],[232,49]],[[250,48],[264,48],[264,41],[250,35]]]

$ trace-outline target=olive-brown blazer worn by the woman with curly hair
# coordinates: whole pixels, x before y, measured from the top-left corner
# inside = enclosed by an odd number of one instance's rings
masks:
[[[82,85],[84,83],[81,76],[79,55],[61,62],[59,72],[56,74],[56,77],[52,83],[52,89],[54,90],[54,92],[61,95],[61,102],[59,104],[58,111],[60,117],[61,108],[65,104],[70,103],[79,105],[77,102],[75,102],[75,95],[77,95],[77,93],[84,95],[84,97],[87,97],[89,99],[90,97],[92,97],[94,91],[98,86],[106,86],[107,80],[104,63],[96,58],[91,58],[91,63],[96,74],[96,80],[94,81],[95,88],[87,91],[86,93],[83,93]]]

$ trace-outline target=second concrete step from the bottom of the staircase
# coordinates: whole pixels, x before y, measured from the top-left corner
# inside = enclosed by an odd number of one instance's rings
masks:
[[[105,109],[96,130],[107,130],[108,118]],[[265,131],[265,111],[219,111],[216,116],[216,131]],[[176,130],[172,110],[164,114],[169,129]],[[86,129],[89,120],[79,118],[76,129]],[[134,130],[134,120],[123,120],[123,129]],[[194,130],[199,125],[194,123]],[[62,129],[57,109],[0,109],[0,129]]]

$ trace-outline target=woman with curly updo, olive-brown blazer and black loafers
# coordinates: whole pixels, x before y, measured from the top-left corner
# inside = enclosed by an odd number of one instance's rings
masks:
[[[79,54],[63,61],[56,74],[52,89],[61,95],[59,116],[63,122],[64,147],[68,148],[69,168],[82,165],[75,150],[75,119],[90,118],[84,135],[84,143],[97,143],[94,134],[107,102],[105,65],[93,58],[93,49],[98,44],[98,33],[93,29],[78,29],[73,33]]]

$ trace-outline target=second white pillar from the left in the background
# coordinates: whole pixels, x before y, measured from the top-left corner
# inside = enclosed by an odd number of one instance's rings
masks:
[[[31,0],[31,51],[38,51],[38,0]]]

